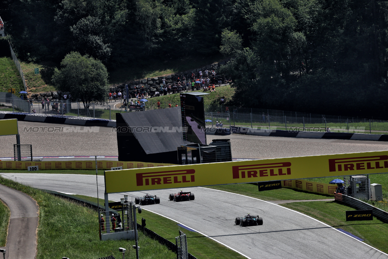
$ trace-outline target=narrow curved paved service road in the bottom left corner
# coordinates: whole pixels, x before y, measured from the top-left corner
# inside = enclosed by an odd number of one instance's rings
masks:
[[[27,194],[4,185],[0,185],[0,199],[11,212],[5,255],[9,259],[34,259],[39,219],[36,201]]]

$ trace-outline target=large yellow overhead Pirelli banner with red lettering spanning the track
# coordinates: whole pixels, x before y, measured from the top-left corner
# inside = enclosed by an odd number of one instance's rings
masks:
[[[105,172],[107,193],[388,172],[388,151]]]

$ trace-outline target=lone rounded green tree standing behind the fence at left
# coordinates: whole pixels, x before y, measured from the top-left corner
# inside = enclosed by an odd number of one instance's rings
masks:
[[[88,55],[71,52],[55,69],[52,82],[58,90],[70,92],[73,99],[80,99],[85,109],[92,102],[105,101],[109,92],[108,73],[102,62]]]

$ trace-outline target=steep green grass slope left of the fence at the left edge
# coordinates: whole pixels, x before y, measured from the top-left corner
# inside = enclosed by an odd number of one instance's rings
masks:
[[[0,58],[0,92],[8,92],[8,88],[15,88],[16,93],[24,91],[24,85],[11,58]]]

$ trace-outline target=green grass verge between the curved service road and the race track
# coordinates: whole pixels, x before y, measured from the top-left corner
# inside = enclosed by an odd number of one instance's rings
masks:
[[[126,258],[136,258],[132,245],[134,241],[99,239],[99,215],[96,211],[68,202],[38,189],[21,185],[0,177],[0,183],[24,192],[39,205],[38,252],[37,259],[62,258],[63,256],[78,259],[114,256],[121,258],[119,247],[126,249]],[[2,214],[1,214],[2,215]],[[5,232],[2,228],[1,232]],[[146,237],[139,231],[141,258],[171,259],[176,254]]]

